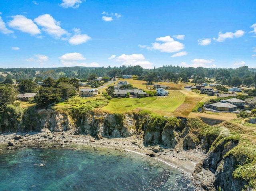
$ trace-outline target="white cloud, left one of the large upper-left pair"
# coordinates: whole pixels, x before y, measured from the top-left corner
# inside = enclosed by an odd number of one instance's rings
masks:
[[[16,30],[20,30],[30,35],[40,34],[40,29],[31,19],[26,18],[23,15],[12,16],[13,20],[8,22],[8,26]]]

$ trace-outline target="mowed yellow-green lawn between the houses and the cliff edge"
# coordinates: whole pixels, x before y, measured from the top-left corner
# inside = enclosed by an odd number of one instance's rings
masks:
[[[103,110],[112,112],[126,112],[135,108],[149,110],[157,114],[171,115],[185,100],[185,95],[179,91],[169,91],[166,97],[154,96],[147,98],[112,98]]]

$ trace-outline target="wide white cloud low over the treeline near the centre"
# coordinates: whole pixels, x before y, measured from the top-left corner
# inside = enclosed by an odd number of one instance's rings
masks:
[[[126,55],[122,54],[118,57],[116,55],[112,55],[109,59],[114,59],[117,62],[122,63],[121,65],[126,66],[141,66],[142,68],[152,69],[153,63],[146,61],[144,55],[142,54],[132,54],[132,55]]]

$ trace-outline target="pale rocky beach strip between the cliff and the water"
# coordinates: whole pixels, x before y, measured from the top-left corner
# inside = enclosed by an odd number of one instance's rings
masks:
[[[74,134],[72,130],[51,132],[47,128],[43,128],[40,132],[0,134],[0,154],[7,149],[64,147],[70,144],[90,146],[96,151],[97,148],[104,147],[151,156],[180,169],[182,173],[190,177],[198,191],[203,189],[216,190],[212,184],[214,174],[210,170],[202,168],[201,161],[206,157],[206,154],[200,147],[193,150],[183,150],[182,145],[177,145],[174,149],[159,144],[145,146],[143,138],[136,135],[126,138],[103,137],[100,140],[95,140],[90,135]]]

